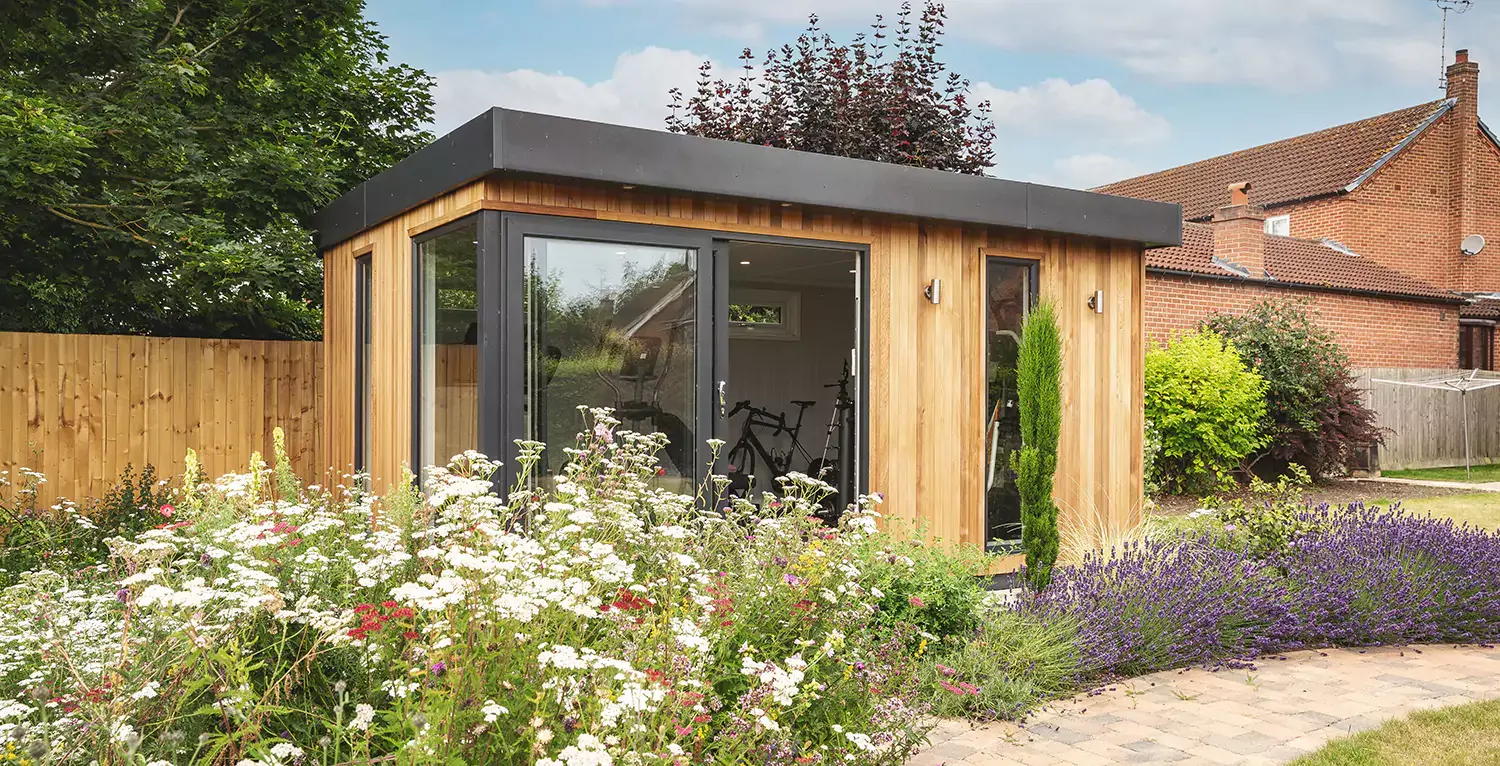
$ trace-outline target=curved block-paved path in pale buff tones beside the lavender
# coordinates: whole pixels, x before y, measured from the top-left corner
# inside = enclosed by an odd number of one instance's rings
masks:
[[[1122,681],[1022,726],[942,721],[908,766],[1286,763],[1412,711],[1500,697],[1500,649],[1326,649],[1256,666]]]

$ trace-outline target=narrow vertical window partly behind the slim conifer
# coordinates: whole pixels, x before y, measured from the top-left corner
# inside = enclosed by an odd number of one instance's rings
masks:
[[[1036,264],[986,258],[984,268],[984,529],[990,549],[1022,538],[1022,496],[1011,453],[1022,447],[1016,358],[1022,321],[1036,297]]]

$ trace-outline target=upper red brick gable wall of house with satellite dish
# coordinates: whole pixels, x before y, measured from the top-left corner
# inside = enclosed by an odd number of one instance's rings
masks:
[[[1338,240],[1356,253],[1440,288],[1500,291],[1500,151],[1484,135],[1473,136],[1474,183],[1467,184],[1470,199],[1461,199],[1454,183],[1455,117],[1455,112],[1443,115],[1354,192],[1274,207],[1266,214],[1290,214],[1293,237]],[[1473,130],[1478,132],[1478,124]],[[1490,246],[1478,256],[1460,255],[1458,243],[1466,234],[1482,234]]]

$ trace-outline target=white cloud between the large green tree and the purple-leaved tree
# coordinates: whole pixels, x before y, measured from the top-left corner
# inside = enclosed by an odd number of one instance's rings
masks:
[[[706,58],[651,46],[621,54],[609,78],[598,82],[534,69],[438,72],[434,130],[442,135],[490,106],[663,129],[670,112],[668,90],[680,87],[690,94]]]

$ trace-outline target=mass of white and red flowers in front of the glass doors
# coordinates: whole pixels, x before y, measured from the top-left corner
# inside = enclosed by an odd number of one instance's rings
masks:
[[[975,585],[882,532],[878,496],[828,528],[806,475],[765,511],[722,477],[676,495],[664,438],[616,426],[594,411],[548,489],[525,442],[507,496],[474,453],[424,496],[258,460],[183,487],[102,565],[0,591],[0,741],[80,765],[902,763],[930,711],[910,598],[951,600],[940,627]]]

